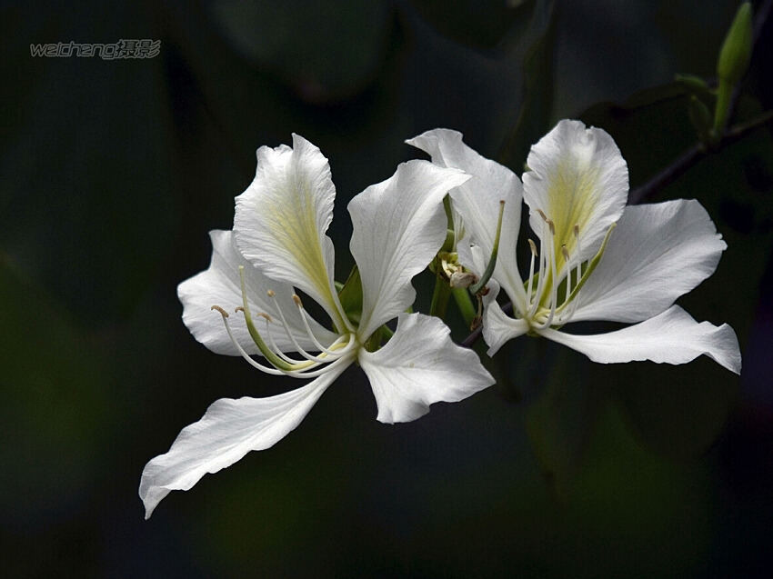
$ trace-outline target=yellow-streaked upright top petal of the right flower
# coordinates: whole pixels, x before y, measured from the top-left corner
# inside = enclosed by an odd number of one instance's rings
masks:
[[[546,227],[537,209],[553,221],[559,267],[564,263],[562,245],[573,258],[579,253],[582,261],[595,255],[609,226],[623,214],[628,196],[626,161],[612,137],[564,120],[531,147],[527,165],[523,181],[529,224],[542,237]]]

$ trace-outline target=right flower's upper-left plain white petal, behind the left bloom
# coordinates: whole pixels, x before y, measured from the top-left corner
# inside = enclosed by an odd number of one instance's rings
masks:
[[[526,294],[517,269],[517,238],[523,201],[520,179],[506,166],[478,155],[464,144],[462,134],[457,131],[434,129],[406,142],[431,155],[435,165],[461,169],[473,175],[467,183],[451,190],[450,195],[455,211],[465,224],[465,234],[483,249],[487,260],[497,235],[499,202],[505,202],[494,278],[506,288],[507,294],[517,295],[519,302],[524,301]]]

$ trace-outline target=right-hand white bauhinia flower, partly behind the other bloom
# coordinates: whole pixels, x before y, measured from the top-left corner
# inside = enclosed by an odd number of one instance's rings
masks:
[[[450,195],[471,241],[459,245],[460,262],[477,275],[491,253],[497,203],[507,201],[492,278],[496,283],[484,299],[488,354],[507,340],[530,334],[604,364],[684,364],[706,354],[740,373],[733,329],[698,324],[674,304],[714,273],[727,245],[698,201],[626,205],[627,165],[606,132],[561,121],[532,146],[523,188],[513,185],[507,191],[502,191],[499,176],[504,167],[494,170],[496,164],[482,160],[460,134],[438,129],[417,137],[414,144],[435,164],[475,175]],[[520,212],[514,206],[520,205],[521,191],[537,237],[537,242],[528,240],[526,282],[517,268],[515,241]],[[512,316],[497,303],[500,287],[512,303]],[[589,320],[633,325],[596,335],[564,331],[570,322]]]

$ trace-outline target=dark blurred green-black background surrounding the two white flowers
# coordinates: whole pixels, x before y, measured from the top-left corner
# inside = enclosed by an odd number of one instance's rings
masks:
[[[763,3],[769,8],[769,2]],[[217,398],[298,383],[211,354],[176,285],[206,268],[260,145],[329,158],[347,201],[438,126],[522,172],[558,119],[641,185],[692,145],[676,73],[711,78],[733,1],[12,4],[0,13],[0,574],[8,577],[770,576],[773,143],[762,129],[648,201],[698,198],[728,250],[679,300],[731,324],[740,379],[590,364],[521,338],[497,386],[376,422],[352,368],[274,448],[143,520],[146,462]],[[766,9],[767,9],[766,8]],[[756,11],[759,5],[756,6]],[[734,123],[771,108],[770,25]],[[37,43],[161,41],[152,59]],[[427,304],[431,279],[417,279]],[[426,311],[426,310],[425,310]],[[454,336],[466,332],[452,321]]]

